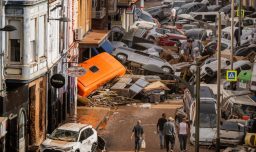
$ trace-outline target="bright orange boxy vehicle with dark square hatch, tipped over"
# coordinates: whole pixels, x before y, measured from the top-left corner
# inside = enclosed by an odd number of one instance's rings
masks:
[[[89,96],[93,91],[115,77],[125,74],[125,67],[108,53],[98,54],[79,64],[86,69],[86,74],[78,78],[78,94]]]

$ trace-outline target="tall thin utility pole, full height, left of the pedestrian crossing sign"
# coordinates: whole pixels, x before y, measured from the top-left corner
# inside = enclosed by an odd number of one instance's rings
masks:
[[[221,79],[221,14],[218,14],[218,72],[217,72],[217,138],[216,138],[216,152],[220,152],[220,79]]]

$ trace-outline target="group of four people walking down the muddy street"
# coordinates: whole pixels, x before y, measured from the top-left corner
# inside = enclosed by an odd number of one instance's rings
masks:
[[[173,152],[176,139],[176,130],[178,133],[180,151],[187,151],[187,137],[189,134],[189,125],[187,119],[183,118],[181,122],[175,125],[175,120],[172,117],[167,118],[163,113],[162,117],[157,122],[157,133],[160,139],[160,149],[166,148],[167,152]],[[141,121],[138,120],[137,124],[133,127],[131,139],[135,137],[135,152],[139,152],[141,142],[144,140],[144,131],[141,126]],[[171,145],[171,146],[170,146]]]

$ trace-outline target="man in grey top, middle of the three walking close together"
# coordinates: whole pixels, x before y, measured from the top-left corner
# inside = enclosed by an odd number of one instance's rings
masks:
[[[175,144],[175,127],[174,119],[172,117],[168,118],[168,121],[164,124],[164,137],[165,137],[165,146],[167,152],[173,152]],[[171,151],[169,151],[169,144],[171,143]]]

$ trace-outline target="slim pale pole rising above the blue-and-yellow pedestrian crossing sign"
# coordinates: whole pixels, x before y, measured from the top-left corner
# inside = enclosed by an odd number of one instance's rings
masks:
[[[230,52],[230,61],[231,61],[231,70],[233,70],[233,53],[234,53],[234,0],[231,1],[231,52]]]

